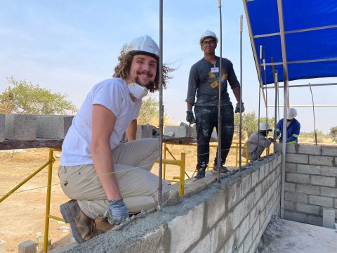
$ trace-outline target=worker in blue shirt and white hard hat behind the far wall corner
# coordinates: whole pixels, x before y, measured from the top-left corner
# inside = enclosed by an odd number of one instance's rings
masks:
[[[286,144],[297,144],[298,136],[300,135],[300,122],[295,117],[297,116],[297,110],[295,108],[289,108],[286,111]],[[279,138],[279,136],[281,137]],[[276,136],[279,138],[279,142],[283,141],[283,119],[279,120],[276,126]]]

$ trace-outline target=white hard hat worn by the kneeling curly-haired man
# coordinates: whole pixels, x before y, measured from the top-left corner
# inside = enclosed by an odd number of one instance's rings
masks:
[[[149,35],[144,35],[133,39],[128,44],[128,53],[133,56],[145,54],[147,56],[154,57],[156,60],[159,60],[159,46]]]

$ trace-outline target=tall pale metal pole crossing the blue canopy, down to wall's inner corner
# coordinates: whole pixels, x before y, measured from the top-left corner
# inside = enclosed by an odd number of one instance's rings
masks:
[[[283,110],[283,133],[282,133],[282,176],[281,176],[281,218],[284,218],[284,183],[286,176],[286,106],[289,106],[288,91],[288,65],[286,64],[286,38],[284,36],[284,20],[282,0],[277,0],[279,13],[279,34],[282,46],[283,82],[284,82],[284,110]]]

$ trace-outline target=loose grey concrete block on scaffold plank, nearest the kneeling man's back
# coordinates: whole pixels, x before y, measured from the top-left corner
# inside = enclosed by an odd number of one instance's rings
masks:
[[[64,139],[74,116],[37,115],[37,138]]]

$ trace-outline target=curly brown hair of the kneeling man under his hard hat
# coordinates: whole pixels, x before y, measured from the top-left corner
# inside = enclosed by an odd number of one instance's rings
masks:
[[[121,54],[118,57],[119,64],[114,67],[114,74],[112,75],[112,77],[120,77],[124,80],[127,79],[131,67],[132,58],[133,56],[128,53],[128,45],[124,45],[123,48],[121,48]],[[166,89],[166,83],[168,82],[168,80],[172,78],[171,76],[169,76],[169,73],[173,72],[174,70],[176,69],[173,69],[163,64],[164,89]],[[159,90],[159,64],[157,64],[156,78],[154,79],[154,82],[152,84],[147,86],[147,89],[152,93]]]

